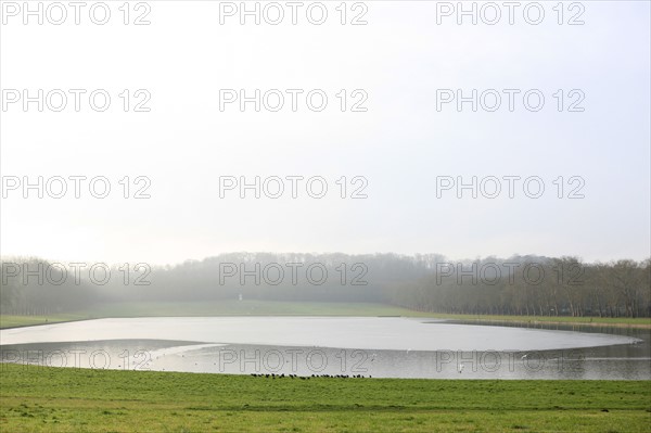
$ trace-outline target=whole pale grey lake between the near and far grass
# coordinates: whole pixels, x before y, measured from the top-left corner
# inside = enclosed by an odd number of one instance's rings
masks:
[[[580,331],[580,332],[578,332]],[[58,367],[439,379],[651,379],[650,331],[412,318],[99,319],[0,331],[1,359]]]

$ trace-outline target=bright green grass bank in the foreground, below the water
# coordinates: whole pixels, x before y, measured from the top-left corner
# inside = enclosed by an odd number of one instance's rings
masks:
[[[7,432],[646,432],[649,382],[259,379],[3,365]]]

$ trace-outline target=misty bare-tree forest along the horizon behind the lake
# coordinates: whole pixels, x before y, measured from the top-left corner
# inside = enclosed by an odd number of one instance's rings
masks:
[[[79,311],[114,302],[374,302],[419,311],[651,316],[651,259],[232,253],[176,266],[74,265],[3,257],[2,314]],[[92,269],[92,271],[91,271]]]

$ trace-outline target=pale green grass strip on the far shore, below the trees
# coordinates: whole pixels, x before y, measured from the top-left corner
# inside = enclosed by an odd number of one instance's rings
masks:
[[[59,314],[50,316],[0,315],[0,328],[13,328],[102,317],[156,316],[406,316],[472,320],[478,322],[545,322],[559,324],[627,326],[651,329],[651,319],[649,318],[443,315],[413,311],[407,308],[385,304],[277,301],[115,303],[98,306],[86,311],[76,311],[73,314]]]

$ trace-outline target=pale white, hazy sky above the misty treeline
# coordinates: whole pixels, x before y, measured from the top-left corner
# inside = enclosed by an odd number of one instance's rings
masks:
[[[23,112],[21,103],[1,113],[3,177],[104,176],[112,188],[103,200],[88,181],[80,199],[71,190],[60,200],[4,191],[2,255],[152,264],[231,251],[650,255],[649,2],[585,1],[585,25],[574,26],[558,25],[557,2],[541,2],[540,25],[518,10],[514,25],[502,16],[493,26],[457,25],[455,15],[437,25],[436,3],[426,1],[367,1],[368,25],[359,26],[340,24],[340,2],[324,2],[320,26],[301,11],[297,25],[285,16],[242,26],[238,16],[220,25],[218,2],[151,1],[151,25],[125,26],[122,2],[108,3],[104,26],[87,15],[79,26],[25,26],[18,16],[1,28],[3,90],[112,97],[105,112],[92,111],[88,97],[75,112],[71,97],[60,113],[36,104]],[[151,111],[125,113],[124,89],[150,92]],[[220,89],[304,93],[296,112],[289,95],[279,112],[253,103],[241,112],[237,103],[220,111]],[[306,107],[312,89],[329,98],[321,112]],[[368,94],[366,112],[349,111],[356,89]],[[470,103],[458,112],[455,103],[437,111],[437,89],[521,93],[513,112],[505,93],[495,112]],[[529,89],[545,95],[538,112],[522,103]],[[585,94],[583,112],[567,111],[573,89]],[[139,100],[131,94],[131,105]],[[133,179],[148,177],[151,199],[124,199],[125,176],[130,195]],[[243,200],[238,190],[221,199],[220,176],[321,176],[328,194],[310,198],[303,181],[292,199],[288,181],[277,200],[251,191]],[[348,196],[361,184],[352,178],[367,179],[368,198],[341,199],[342,176]],[[437,176],[538,176],[545,193],[526,196],[521,180],[513,199],[506,181],[496,199],[458,199],[455,189],[437,198]],[[584,199],[567,198],[578,184],[571,177],[585,180]]]

